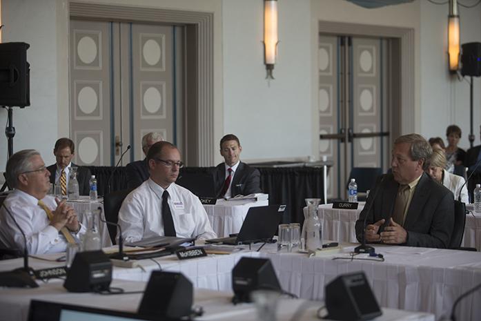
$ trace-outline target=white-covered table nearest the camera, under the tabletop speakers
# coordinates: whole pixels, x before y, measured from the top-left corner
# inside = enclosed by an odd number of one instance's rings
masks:
[[[40,284],[39,288],[36,289],[0,289],[0,311],[2,311],[0,321],[26,321],[30,300],[136,313],[144,295],[143,293],[122,295],[68,293],[63,288],[62,283],[60,280],[52,280],[46,284]],[[144,291],[146,282],[113,280],[110,286],[129,292]],[[233,293],[230,291],[194,289],[193,303],[204,309],[204,315],[195,318],[195,320],[259,320],[255,303],[233,305],[230,303],[232,297]],[[297,321],[319,320],[316,313],[321,305],[322,302],[280,297],[277,299],[276,320],[288,321],[292,320],[294,316]],[[382,312],[383,314],[375,318],[375,321],[435,321],[434,315],[429,313],[385,308],[382,309]],[[83,316],[85,317],[85,315]],[[106,320],[104,319],[106,315],[88,315],[88,317],[90,317],[90,320]]]

